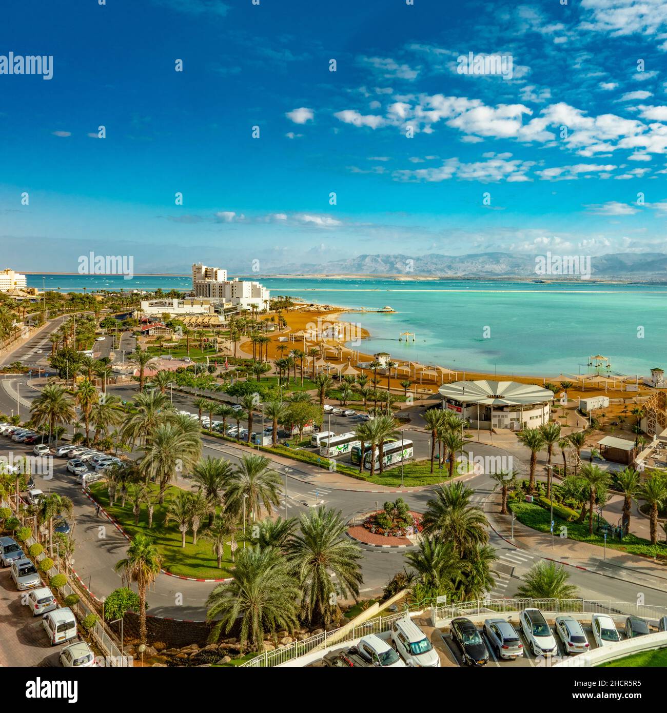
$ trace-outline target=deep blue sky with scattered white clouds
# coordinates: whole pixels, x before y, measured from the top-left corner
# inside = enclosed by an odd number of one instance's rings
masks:
[[[54,57],[50,81],[0,75],[6,266],[664,250],[664,1],[34,0],[3,15],[0,54]],[[511,56],[511,79],[458,73],[469,52]]]

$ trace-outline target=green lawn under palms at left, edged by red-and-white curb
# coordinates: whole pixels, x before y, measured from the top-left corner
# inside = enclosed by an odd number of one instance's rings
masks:
[[[155,487],[155,486],[153,486]],[[219,579],[232,576],[232,561],[230,557],[229,546],[225,548],[225,556],[223,557],[223,567],[218,569],[218,562],[213,555],[213,547],[210,542],[203,540],[205,527],[201,528],[197,533],[197,544],[192,543],[192,532],[185,535],[185,548],[180,546],[180,530],[178,525],[170,523],[164,524],[167,503],[180,488],[170,486],[165,493],[165,504],[157,505],[153,514],[153,528],[148,529],[148,513],[146,506],[142,506],[141,515],[139,515],[139,525],[134,524],[134,515],[132,506],[129,502],[125,508],[121,508],[120,501],[116,501],[113,507],[109,506],[109,499],[106,492],[106,486],[103,483],[92,483],[91,494],[93,498],[101,504],[101,506],[111,515],[113,515],[123,530],[128,535],[133,536],[136,533],[149,535],[153,538],[160,554],[163,557],[163,569],[168,572],[181,575],[182,577],[196,577],[202,579]],[[157,488],[155,487],[157,491]],[[205,523],[204,523],[205,525]],[[240,539],[240,538],[237,538]],[[121,556],[118,556],[121,559]]]

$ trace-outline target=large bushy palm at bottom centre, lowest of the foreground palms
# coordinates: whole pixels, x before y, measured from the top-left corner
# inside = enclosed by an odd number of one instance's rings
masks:
[[[222,632],[240,623],[241,651],[248,644],[261,652],[265,633],[297,627],[299,595],[287,560],[278,550],[241,550],[232,582],[217,585],[206,600],[206,618],[213,623],[209,640],[218,641]]]

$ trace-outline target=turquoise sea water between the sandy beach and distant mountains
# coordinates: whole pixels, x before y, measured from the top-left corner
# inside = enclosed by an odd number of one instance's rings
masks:
[[[47,289],[188,289],[190,277],[49,275]],[[588,356],[612,371],[667,369],[667,286],[484,280],[262,278],[273,296],[290,294],[340,307],[389,305],[396,314],[348,314],[368,329],[362,352],[433,361],[450,369],[498,374],[585,374]],[[42,287],[41,275],[28,284]],[[643,329],[640,329],[643,328]],[[399,342],[414,332],[415,342]],[[485,338],[484,334],[490,334]],[[643,338],[638,338],[638,334]]]

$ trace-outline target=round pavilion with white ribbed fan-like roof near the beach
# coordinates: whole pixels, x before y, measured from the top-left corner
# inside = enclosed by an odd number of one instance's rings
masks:
[[[554,394],[517,381],[453,381],[439,388],[442,408],[455,411],[473,429],[534,429],[549,422]]]

